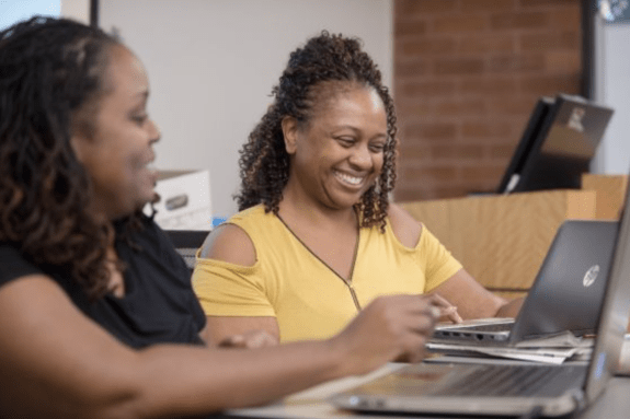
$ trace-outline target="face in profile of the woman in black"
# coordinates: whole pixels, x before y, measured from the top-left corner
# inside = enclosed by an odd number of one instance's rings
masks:
[[[160,133],[147,115],[149,82],[141,62],[119,45],[107,54],[104,92],[79,110],[96,114],[87,116],[89,129],[75,127],[71,144],[91,178],[94,211],[115,219],[153,199],[158,173],[149,165]]]

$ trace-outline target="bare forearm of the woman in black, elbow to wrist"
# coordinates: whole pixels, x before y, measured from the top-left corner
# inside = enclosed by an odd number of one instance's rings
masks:
[[[207,414],[263,404],[353,372],[332,341],[182,349],[161,346],[138,354],[135,376],[141,392],[129,409],[145,417]]]

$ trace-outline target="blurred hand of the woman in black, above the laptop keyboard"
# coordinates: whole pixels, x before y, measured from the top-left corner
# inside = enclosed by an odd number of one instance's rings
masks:
[[[440,314],[434,295],[379,296],[331,342],[347,357],[350,374],[363,374],[399,358],[419,362]]]

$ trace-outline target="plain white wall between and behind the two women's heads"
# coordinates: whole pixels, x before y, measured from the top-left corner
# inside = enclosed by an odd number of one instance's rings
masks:
[[[158,167],[209,168],[214,216],[236,212],[238,150],[288,55],[321,30],[360,37],[392,85],[391,0],[101,0],[149,72]]]

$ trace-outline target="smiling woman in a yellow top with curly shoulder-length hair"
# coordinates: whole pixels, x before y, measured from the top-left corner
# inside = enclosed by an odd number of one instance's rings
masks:
[[[393,101],[358,39],[309,39],[273,94],[241,151],[241,212],[208,236],[193,275],[217,341],[329,338],[383,294],[439,294],[456,322],[518,311],[389,202]]]

